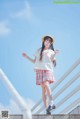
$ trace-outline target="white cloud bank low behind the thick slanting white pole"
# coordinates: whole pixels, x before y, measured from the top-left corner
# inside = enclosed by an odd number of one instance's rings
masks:
[[[34,101],[31,99],[27,99],[26,102],[30,109],[35,104]],[[4,111],[8,110],[9,114],[22,114],[20,107],[18,106],[17,102],[15,102],[15,100],[13,99],[11,99],[9,105],[6,105],[6,106],[0,103],[0,113],[3,110]]]

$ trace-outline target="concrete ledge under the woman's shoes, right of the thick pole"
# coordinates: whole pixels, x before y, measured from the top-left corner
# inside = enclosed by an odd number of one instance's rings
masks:
[[[80,119],[80,105],[68,114],[34,114],[33,119]]]

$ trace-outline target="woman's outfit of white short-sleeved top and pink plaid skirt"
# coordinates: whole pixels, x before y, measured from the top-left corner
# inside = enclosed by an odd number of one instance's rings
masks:
[[[38,49],[34,56],[36,57],[35,72],[36,72],[36,85],[41,85],[45,81],[53,83],[55,81],[53,60],[55,60],[55,52],[51,49],[42,52],[42,60],[40,60],[41,49]]]

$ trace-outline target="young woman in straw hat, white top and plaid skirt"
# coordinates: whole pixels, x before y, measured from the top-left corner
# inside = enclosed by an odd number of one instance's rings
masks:
[[[54,67],[56,66],[55,55],[58,53],[58,50],[54,51],[53,43],[53,37],[44,36],[42,38],[42,47],[35,52],[34,59],[30,58],[26,53],[23,53],[25,58],[35,63],[36,85],[40,85],[42,88],[42,99],[46,108],[46,114],[51,114],[50,111],[56,108],[49,85],[55,81],[53,65]],[[49,104],[47,102],[47,96],[49,98]]]

